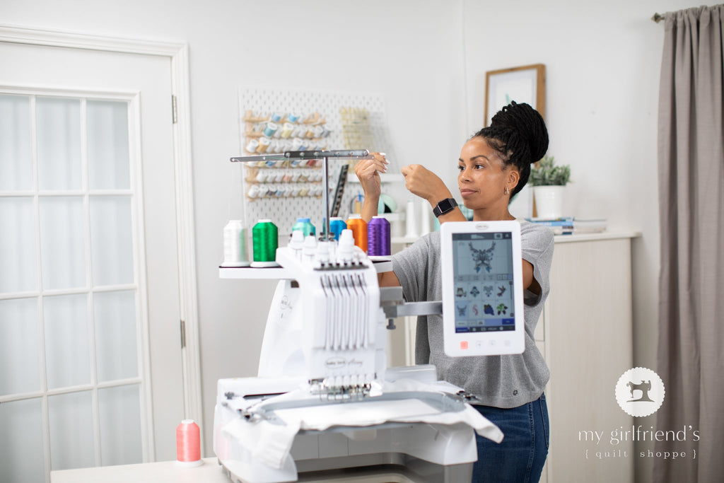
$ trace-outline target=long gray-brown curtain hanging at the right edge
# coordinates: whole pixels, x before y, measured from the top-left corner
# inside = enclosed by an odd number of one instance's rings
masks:
[[[654,482],[724,481],[724,6],[665,14],[659,94],[661,272]],[[649,428],[644,428],[649,429]],[[699,432],[696,441],[694,431]],[[662,438],[665,439],[665,438]],[[694,458],[693,450],[696,450]]]

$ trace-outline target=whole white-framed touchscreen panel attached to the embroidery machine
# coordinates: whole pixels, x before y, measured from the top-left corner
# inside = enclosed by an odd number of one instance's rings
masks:
[[[523,323],[521,225],[451,222],[440,227],[445,353],[520,354]]]

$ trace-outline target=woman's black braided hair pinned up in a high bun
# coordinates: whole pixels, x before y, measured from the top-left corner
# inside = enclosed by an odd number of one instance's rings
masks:
[[[510,102],[493,116],[488,127],[473,135],[487,140],[488,146],[500,153],[503,166],[511,164],[521,174],[518,185],[510,193],[512,199],[528,182],[531,164],[548,151],[548,130],[543,117],[528,104]]]

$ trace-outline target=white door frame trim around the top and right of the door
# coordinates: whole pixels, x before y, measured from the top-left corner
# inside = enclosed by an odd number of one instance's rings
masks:
[[[142,41],[61,30],[43,30],[0,24],[0,42],[55,46],[68,49],[162,56],[171,62],[173,96],[173,158],[176,188],[177,249],[180,295],[180,337],[184,417],[203,421],[201,406],[201,357],[198,337],[195,227],[193,220],[193,170],[188,44]],[[169,113],[171,114],[171,113]]]

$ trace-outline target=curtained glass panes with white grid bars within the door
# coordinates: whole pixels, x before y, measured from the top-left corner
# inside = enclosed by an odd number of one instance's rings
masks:
[[[132,102],[0,92],[2,481],[143,461]]]

